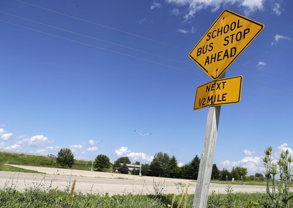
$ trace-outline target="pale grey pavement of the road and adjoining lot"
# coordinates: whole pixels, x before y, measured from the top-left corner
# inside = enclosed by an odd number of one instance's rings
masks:
[[[64,175],[54,175],[56,173],[56,168],[43,168],[43,167],[33,167],[33,166],[20,166],[21,168],[37,170],[40,172],[49,173],[44,176],[44,174],[33,174],[33,173],[15,173],[15,172],[4,172],[0,171],[0,188],[3,188],[5,182],[9,178],[13,179],[13,184],[16,184],[18,190],[24,190],[26,187],[34,187],[34,184],[40,184],[39,187],[42,189],[47,189],[50,184],[52,188],[58,186],[58,189],[64,190],[66,185],[70,180],[70,175],[66,175],[67,172],[71,173],[68,169],[58,169],[58,173]],[[78,174],[80,173],[80,174]],[[78,176],[83,175],[83,176]],[[189,182],[193,185],[189,188],[189,193],[195,192],[196,182],[192,182],[185,179],[168,179],[168,178],[157,178],[157,177],[138,177],[126,174],[113,174],[104,172],[90,172],[90,171],[79,171],[73,170],[71,181],[76,179],[76,191],[84,193],[106,193],[110,195],[122,194],[122,193],[143,193],[147,194],[149,192],[154,192],[153,186],[154,181],[156,184],[161,184],[165,181],[165,186],[163,188],[167,193],[177,192],[174,182]],[[118,177],[125,179],[117,179]],[[116,178],[116,179],[115,179]],[[127,178],[127,179],[126,179]],[[11,185],[12,180],[10,179],[8,185]],[[13,185],[14,186],[14,185]],[[265,186],[257,185],[232,185],[234,192],[266,192]],[[216,192],[225,193],[226,185],[222,184],[210,184],[210,191],[215,189]],[[177,192],[178,193],[178,192]]]

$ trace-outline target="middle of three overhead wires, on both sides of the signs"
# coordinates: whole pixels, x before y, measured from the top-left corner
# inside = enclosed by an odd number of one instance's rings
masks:
[[[16,15],[12,15],[12,14],[6,13],[6,12],[2,12],[2,11],[0,11],[0,12],[3,13],[3,14],[6,14],[6,15],[10,15],[10,16],[17,17],[17,18],[20,18],[20,19],[24,19],[24,20],[27,20],[27,21],[30,21],[30,22],[33,22],[33,23],[38,23],[38,24],[41,24],[41,25],[45,25],[45,26],[48,26],[48,27],[55,28],[55,29],[63,30],[63,31],[66,31],[66,32],[69,32],[69,33],[74,33],[74,34],[77,34],[77,35],[80,35],[80,36],[92,38],[92,39],[99,40],[99,41],[102,41],[102,42],[110,43],[110,44],[117,45],[117,46],[120,46],[120,47],[128,48],[128,49],[131,49],[131,50],[139,51],[139,52],[142,52],[142,53],[150,54],[150,55],[153,55],[153,56],[165,58],[165,59],[168,59],[168,60],[171,60],[171,61],[176,61],[176,62],[179,62],[179,63],[182,63],[182,64],[186,64],[186,65],[190,65],[190,66],[196,67],[195,65],[187,64],[187,63],[184,63],[184,62],[181,62],[181,61],[178,61],[178,60],[174,60],[174,59],[170,59],[170,58],[167,58],[167,57],[159,56],[157,54],[148,53],[148,52],[145,52],[145,51],[142,51],[142,50],[137,50],[137,49],[134,49],[134,48],[131,48],[131,47],[127,47],[127,46],[123,46],[123,45],[120,45],[120,44],[112,43],[112,42],[109,42],[109,41],[106,41],[106,40],[98,39],[98,38],[91,37],[91,36],[87,36],[87,35],[80,34],[80,33],[75,33],[75,32],[72,32],[72,31],[69,31],[69,30],[66,30],[66,29],[58,28],[58,27],[51,26],[51,25],[47,25],[47,24],[44,24],[44,23],[39,23],[39,22],[36,22],[34,20],[26,19],[26,18],[23,18],[23,17],[20,17],[20,16],[16,16]],[[257,70],[255,70],[255,71],[257,71]],[[254,83],[254,84],[263,85],[263,86],[266,86],[266,87],[275,88],[275,89],[278,89],[278,90],[283,90],[283,91],[287,91],[287,92],[293,93],[293,91],[289,91],[289,90],[285,90],[285,89],[281,89],[281,88],[276,88],[276,87],[269,86],[269,85],[265,85],[265,84],[261,84],[261,83],[258,83],[258,82],[254,82],[254,81],[250,81],[250,80],[246,80],[246,81],[249,81],[249,82]]]

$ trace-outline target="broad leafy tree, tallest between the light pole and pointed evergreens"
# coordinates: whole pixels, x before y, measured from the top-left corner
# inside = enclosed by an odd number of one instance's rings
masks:
[[[167,153],[158,152],[155,154],[153,161],[150,163],[150,175],[164,177],[169,160]]]

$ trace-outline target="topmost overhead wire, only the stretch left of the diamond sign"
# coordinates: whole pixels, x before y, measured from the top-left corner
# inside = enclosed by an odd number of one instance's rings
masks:
[[[92,24],[95,24],[95,25],[99,25],[99,26],[102,26],[102,27],[106,27],[106,28],[109,28],[109,29],[114,29],[116,31],[119,31],[119,32],[122,32],[122,33],[127,33],[129,35],[133,35],[133,36],[137,36],[137,37],[140,37],[140,38],[144,38],[144,39],[147,39],[147,40],[151,40],[151,41],[154,41],[154,42],[157,42],[157,43],[161,43],[161,44],[164,44],[164,45],[167,45],[167,46],[171,46],[171,47],[174,47],[174,48],[178,48],[178,49],[181,49],[181,50],[186,50],[184,48],[180,48],[180,47],[177,47],[177,46],[173,46],[171,44],[168,44],[168,43],[163,43],[163,42],[160,42],[160,41],[157,41],[157,40],[153,40],[153,39],[150,39],[150,38],[147,38],[147,37],[143,37],[143,36],[140,36],[140,35],[136,35],[136,34],[133,34],[133,33],[129,33],[129,32],[126,32],[126,31],[123,31],[123,30],[120,30],[120,29],[116,29],[114,27],[109,27],[109,26],[106,26],[106,25],[101,25],[99,23],[94,23],[94,22],[91,22],[91,21],[88,21],[88,20],[85,20],[85,19],[81,19],[81,18],[78,18],[78,17],[74,17],[74,16],[71,16],[71,15],[67,15],[67,14],[63,14],[61,12],[56,12],[54,10],[51,10],[51,9],[47,9],[47,8],[44,8],[44,7],[40,7],[40,6],[37,6],[37,5],[33,5],[33,4],[29,4],[27,2],[23,2],[23,1],[20,1],[20,0],[16,0],[18,2],[22,2],[22,3],[25,3],[25,4],[28,4],[28,5],[31,5],[31,6],[34,6],[34,7],[38,7],[40,9],[45,9],[45,10],[48,10],[50,12],[55,12],[57,14],[61,14],[61,15],[64,15],[64,16],[68,16],[68,17],[71,17],[71,18],[74,18],[74,19],[79,19],[81,21],[84,21],[84,22],[87,22],[87,23],[92,23]],[[189,50],[187,50],[189,51]]]

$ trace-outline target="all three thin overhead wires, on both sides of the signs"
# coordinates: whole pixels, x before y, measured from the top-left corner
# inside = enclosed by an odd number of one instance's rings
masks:
[[[67,14],[64,14],[64,13],[61,13],[61,12],[57,12],[57,11],[54,11],[54,10],[51,10],[51,9],[47,9],[47,8],[44,8],[44,7],[40,7],[40,6],[37,6],[37,5],[33,5],[33,4],[30,4],[30,3],[24,2],[24,1],[20,1],[20,0],[16,0],[16,1],[22,2],[24,4],[31,5],[31,6],[40,8],[40,9],[45,9],[47,11],[54,12],[54,13],[57,13],[57,14],[60,14],[60,15],[63,15],[63,16],[71,17],[73,19],[78,19],[78,20],[81,20],[81,21],[84,21],[84,22],[87,22],[87,23],[91,23],[91,24],[94,24],[94,25],[106,27],[108,29],[113,29],[113,30],[118,31],[118,32],[126,33],[128,35],[132,35],[132,36],[136,36],[136,37],[139,37],[139,38],[143,38],[143,39],[146,39],[146,40],[149,40],[149,41],[153,41],[155,43],[163,44],[163,45],[166,45],[166,46],[169,46],[169,47],[173,47],[173,48],[177,48],[177,49],[180,49],[180,50],[189,51],[189,50],[184,49],[182,47],[178,47],[178,46],[175,46],[175,45],[172,45],[172,44],[168,44],[168,43],[163,43],[161,41],[153,40],[153,39],[150,39],[150,38],[147,38],[147,37],[144,37],[144,36],[136,35],[134,33],[129,33],[129,32],[126,32],[126,31],[123,31],[123,30],[120,30],[120,29],[116,29],[116,28],[113,28],[113,27],[109,27],[109,26],[106,26],[106,25],[102,25],[102,24],[99,24],[99,23],[94,23],[94,22],[91,22],[91,21],[88,21],[88,20],[85,20],[85,19],[81,19],[81,18],[78,18],[78,17],[74,17],[74,16],[71,16],[71,15],[67,15]],[[154,54],[154,53],[149,53],[149,52],[146,52],[146,51],[143,51],[143,50],[139,50],[139,49],[135,49],[135,48],[132,48],[132,47],[128,47],[128,46],[125,46],[125,45],[121,45],[121,44],[109,42],[109,41],[102,40],[102,39],[99,39],[99,38],[95,38],[95,37],[92,37],[92,36],[88,36],[88,35],[85,35],[85,34],[81,34],[81,33],[73,32],[73,31],[70,31],[70,30],[62,29],[62,28],[59,28],[59,27],[55,27],[55,26],[52,26],[52,25],[48,25],[48,24],[45,24],[45,23],[40,23],[40,22],[31,20],[31,19],[26,19],[26,18],[23,18],[23,17],[20,17],[20,16],[16,16],[16,15],[13,15],[13,14],[9,14],[9,13],[3,12],[3,11],[0,11],[0,12],[2,14],[5,14],[5,15],[13,16],[13,17],[16,17],[16,18],[19,18],[19,19],[24,19],[26,21],[30,21],[30,22],[33,22],[33,23],[41,24],[41,25],[44,25],[44,26],[47,26],[47,27],[51,27],[51,28],[54,28],[54,29],[59,29],[59,30],[62,30],[62,31],[65,31],[65,32],[69,32],[69,33],[73,33],[73,34],[76,34],[76,35],[79,35],[79,36],[83,36],[83,37],[91,38],[91,39],[94,39],[94,40],[102,41],[102,42],[105,42],[105,43],[113,44],[113,45],[116,45],[116,46],[119,46],[119,47],[131,49],[131,50],[134,50],[134,51],[137,51],[137,52],[149,54],[149,55],[156,56],[156,57],[159,57],[159,58],[164,58],[164,59],[167,59],[167,60],[170,60],[170,61],[174,61],[174,62],[177,62],[177,63],[180,63],[180,64],[185,64],[185,65],[189,65],[189,66],[192,66],[192,67],[197,67],[196,65],[193,65],[193,64],[188,64],[188,63],[185,63],[185,62],[182,62],[182,61],[179,61],[179,60],[175,60],[175,59],[171,59],[171,58],[168,58],[168,57],[160,56],[160,55],[157,55],[157,54]],[[176,69],[176,70],[179,70],[179,71],[184,71],[184,72],[187,72],[187,73],[191,73],[191,74],[194,74],[194,75],[208,77],[207,75],[204,75],[204,74],[198,74],[198,73],[195,73],[193,71],[188,71],[188,70],[185,70],[185,69],[173,67],[173,66],[170,66],[170,65],[167,65],[167,64],[162,64],[162,63],[159,63],[159,62],[150,61],[150,60],[147,60],[147,59],[144,59],[144,58],[139,58],[139,57],[132,56],[132,55],[129,55],[129,54],[120,53],[120,52],[117,52],[117,51],[114,51],[114,50],[109,50],[109,49],[106,49],[106,48],[97,47],[97,46],[94,46],[94,45],[91,45],[91,44],[87,44],[87,43],[79,42],[79,41],[76,41],[76,40],[68,39],[68,38],[62,37],[62,36],[57,36],[57,35],[54,35],[54,34],[51,34],[51,33],[45,33],[45,32],[42,32],[40,30],[36,30],[36,29],[29,28],[29,27],[21,26],[21,25],[18,25],[18,24],[14,24],[14,23],[11,23],[11,22],[4,21],[4,20],[0,20],[0,21],[3,22],[3,23],[7,23],[7,24],[10,24],[10,25],[14,25],[14,26],[21,27],[23,29],[29,29],[29,30],[32,30],[32,31],[35,31],[35,32],[38,32],[38,33],[43,33],[43,34],[47,34],[47,35],[50,35],[50,36],[58,37],[58,38],[61,38],[63,40],[68,40],[68,41],[72,41],[72,42],[75,42],[75,43],[80,43],[80,44],[87,45],[87,46],[90,46],[90,47],[98,48],[98,49],[101,49],[101,50],[106,50],[106,51],[109,51],[109,52],[112,52],[112,53],[116,53],[116,54],[120,54],[120,55],[124,55],[124,56],[127,56],[127,57],[136,58],[136,59],[139,59],[141,61],[147,61],[147,62],[150,62],[150,63],[158,64],[158,65],[161,65],[161,66],[165,66],[165,67],[168,67],[168,68],[173,68],[173,69]],[[273,76],[273,77],[285,79],[285,80],[288,80],[288,81],[293,81],[292,79],[289,79],[289,78],[286,78],[286,77],[281,77],[281,76],[278,76],[278,75],[274,75],[274,74],[270,74],[270,73],[267,73],[267,72],[259,71],[259,70],[256,70],[256,69],[248,68],[248,67],[245,67],[245,66],[240,65],[240,64],[235,64],[235,65],[240,66],[242,68],[249,69],[251,71],[256,71],[256,72],[259,72],[259,73],[263,73],[263,74],[270,75],[270,76]],[[255,81],[251,81],[251,80],[247,80],[247,79],[246,79],[246,81],[249,81],[249,82],[254,83],[254,84],[257,84],[257,85],[262,85],[262,86],[265,86],[265,87],[274,88],[274,89],[277,89],[277,90],[280,90],[280,91],[285,91],[285,92],[293,93],[293,91],[289,91],[289,90],[285,90],[285,89],[281,89],[281,88],[276,88],[274,86],[270,86],[270,85],[258,83],[258,82],[255,82]],[[251,88],[251,87],[249,87],[249,88]],[[282,94],[279,94],[279,93],[273,93],[273,92],[263,91],[263,90],[260,90],[260,89],[257,89],[257,88],[252,88],[252,89],[259,90],[259,91],[262,91],[262,92],[271,93],[271,94],[276,94],[276,95],[280,95],[280,96],[285,96],[285,97],[293,98],[293,97],[288,96],[288,95],[282,95]]]

